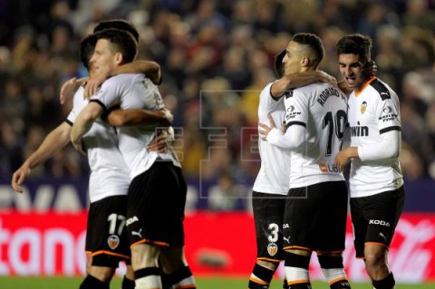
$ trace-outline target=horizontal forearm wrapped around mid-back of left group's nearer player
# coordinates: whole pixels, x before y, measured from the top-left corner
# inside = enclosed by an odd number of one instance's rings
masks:
[[[104,116],[112,126],[120,127],[124,125],[140,125],[146,123],[159,122],[161,126],[170,126],[174,119],[172,113],[167,109],[158,111],[150,110],[113,110]]]

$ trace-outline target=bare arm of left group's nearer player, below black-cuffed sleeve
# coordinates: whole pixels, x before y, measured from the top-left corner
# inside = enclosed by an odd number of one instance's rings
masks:
[[[82,149],[82,136],[91,129],[92,123],[102,115],[102,112],[102,106],[97,101],[91,101],[79,113],[74,121],[70,135],[75,149],[84,152]]]

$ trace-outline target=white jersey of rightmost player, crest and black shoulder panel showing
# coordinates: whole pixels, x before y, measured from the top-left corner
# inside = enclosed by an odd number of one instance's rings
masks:
[[[373,77],[349,97],[351,146],[379,143],[381,134],[401,130],[399,98],[386,83]],[[403,185],[399,158],[362,161],[352,159],[351,197],[366,197]]]

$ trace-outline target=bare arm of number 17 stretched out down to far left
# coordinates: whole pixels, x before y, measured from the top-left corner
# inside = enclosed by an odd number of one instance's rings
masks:
[[[70,142],[70,132],[71,125],[63,122],[45,137],[39,148],[14,172],[11,185],[16,192],[23,192],[21,185],[25,178],[30,176],[32,169],[39,166],[45,160],[52,158],[57,151],[63,149]]]

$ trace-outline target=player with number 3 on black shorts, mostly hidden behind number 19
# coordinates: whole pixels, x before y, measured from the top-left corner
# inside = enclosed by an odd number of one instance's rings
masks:
[[[279,80],[266,85],[260,93],[258,120],[266,122],[270,113],[275,123],[285,121],[285,92],[295,87],[322,81],[336,84],[335,79],[320,71],[285,74],[285,50],[275,57]],[[258,139],[261,167],[252,192],[252,207],[256,225],[256,265],[249,278],[249,289],[268,288],[273,275],[283,260],[283,220],[285,197],[289,189],[290,151]],[[284,284],[287,288],[287,285]]]

